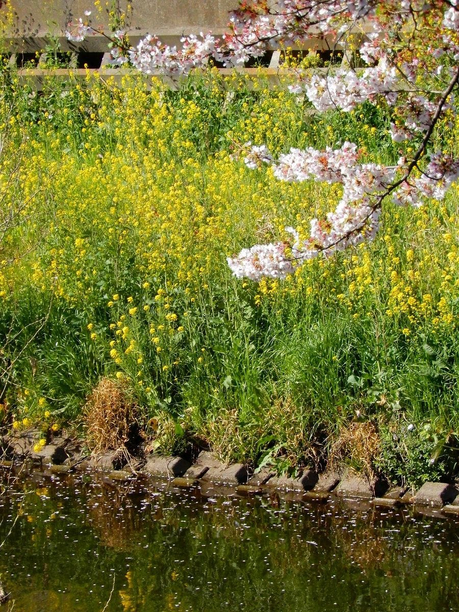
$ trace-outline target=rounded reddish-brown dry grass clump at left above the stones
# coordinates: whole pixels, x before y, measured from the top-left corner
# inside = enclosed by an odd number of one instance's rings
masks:
[[[84,408],[88,445],[94,454],[130,452],[138,431],[138,407],[122,381],[102,378]]]

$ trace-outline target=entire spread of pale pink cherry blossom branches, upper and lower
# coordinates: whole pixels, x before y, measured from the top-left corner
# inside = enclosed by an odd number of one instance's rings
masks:
[[[373,239],[387,196],[392,195],[402,206],[420,206],[422,198],[441,199],[457,179],[459,162],[448,154],[433,154],[424,170],[419,168],[421,157],[427,158],[427,146],[439,119],[446,110],[455,112],[452,93],[459,80],[459,68],[454,64],[459,61],[457,5],[458,0],[436,0],[431,5],[422,0],[278,0],[274,9],[267,0],[242,0],[233,12],[229,32],[221,39],[210,32],[200,37],[190,35],[182,39],[181,49],[164,45],[152,35],[134,49],[125,43],[122,31],[112,37],[99,33],[116,45],[111,51],[114,61],[129,61],[147,74],[160,70],[171,76],[205,66],[210,58],[225,66],[244,65],[278,42],[333,37],[335,48],[338,42],[345,46],[357,24],[367,25],[366,39],[359,50],[367,67],[341,67],[333,73],[329,69],[326,75],[305,73],[291,91],[304,91],[318,111],[351,111],[365,101],[384,101],[392,113],[392,140],[401,142],[422,135],[420,145],[411,161],[401,158],[395,168],[360,163],[356,145],[349,142],[335,150],[291,149],[277,162],[266,146],[249,148],[244,160],[249,168],[268,163],[282,181],[325,181],[343,188],[335,211],[324,220],[312,219],[309,239],[300,240],[296,230],[286,228],[293,241],[255,245],[243,249],[236,258],[228,258],[236,276],[259,280],[263,276],[283,278],[306,259],[319,254],[330,256]],[[437,23],[435,36],[432,23]],[[81,19],[74,28],[72,40],[96,32]],[[72,36],[71,32],[67,34]],[[424,55],[416,53],[419,48],[425,50]],[[442,56],[446,56],[446,66],[438,63]],[[448,67],[448,62],[453,67]],[[446,86],[433,86],[448,74]],[[420,176],[412,179],[415,169]]]

